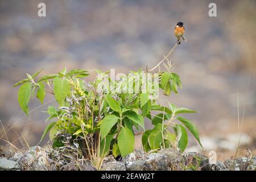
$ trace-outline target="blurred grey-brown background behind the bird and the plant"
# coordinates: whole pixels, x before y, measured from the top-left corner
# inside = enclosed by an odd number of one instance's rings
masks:
[[[38,16],[40,2],[46,3],[46,17]],[[232,158],[241,137],[238,155],[246,147],[256,154],[256,2],[214,1],[217,17],[208,15],[210,2],[1,0],[0,119],[6,130],[0,139],[7,135],[19,146],[22,137],[33,146],[47,125],[42,110],[53,104],[52,97],[44,106],[30,102],[28,118],[18,105],[12,85],[26,73],[152,68],[175,45],[174,27],[182,21],[187,43],[170,58],[183,89],[160,99],[199,111],[185,116],[199,128],[204,149],[190,138],[187,151],[215,150],[218,159]],[[6,142],[0,144],[7,150]]]

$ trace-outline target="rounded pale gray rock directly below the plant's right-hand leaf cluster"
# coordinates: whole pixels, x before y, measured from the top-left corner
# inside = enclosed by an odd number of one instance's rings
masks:
[[[164,154],[153,153],[147,156],[144,171],[167,171],[170,168],[168,157]]]

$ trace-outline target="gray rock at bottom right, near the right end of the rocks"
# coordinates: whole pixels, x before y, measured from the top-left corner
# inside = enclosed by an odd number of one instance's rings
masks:
[[[228,159],[224,162],[226,168],[234,171],[245,171],[249,163],[247,158]]]

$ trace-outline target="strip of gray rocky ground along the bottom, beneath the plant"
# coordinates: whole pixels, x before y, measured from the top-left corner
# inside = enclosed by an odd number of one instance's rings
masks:
[[[65,150],[65,152],[64,152]],[[67,153],[67,150],[69,151]],[[72,154],[73,152],[73,154]],[[34,146],[24,152],[17,152],[13,156],[0,158],[0,170],[61,170],[61,171],[94,171],[96,168],[89,160],[77,160],[76,148],[60,148],[58,150],[44,150]],[[101,170],[104,171],[255,171],[256,156],[247,155],[224,162],[211,164],[209,158],[197,152],[181,153],[174,149],[162,149],[157,153],[145,153],[135,150],[125,158],[114,159],[112,155],[104,159]]]

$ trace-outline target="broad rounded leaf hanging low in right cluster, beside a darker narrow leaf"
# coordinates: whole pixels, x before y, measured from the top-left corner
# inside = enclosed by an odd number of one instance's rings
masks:
[[[159,123],[152,129],[150,135],[148,136],[148,143],[150,144],[151,149],[158,149],[163,142],[162,136],[162,124]]]

